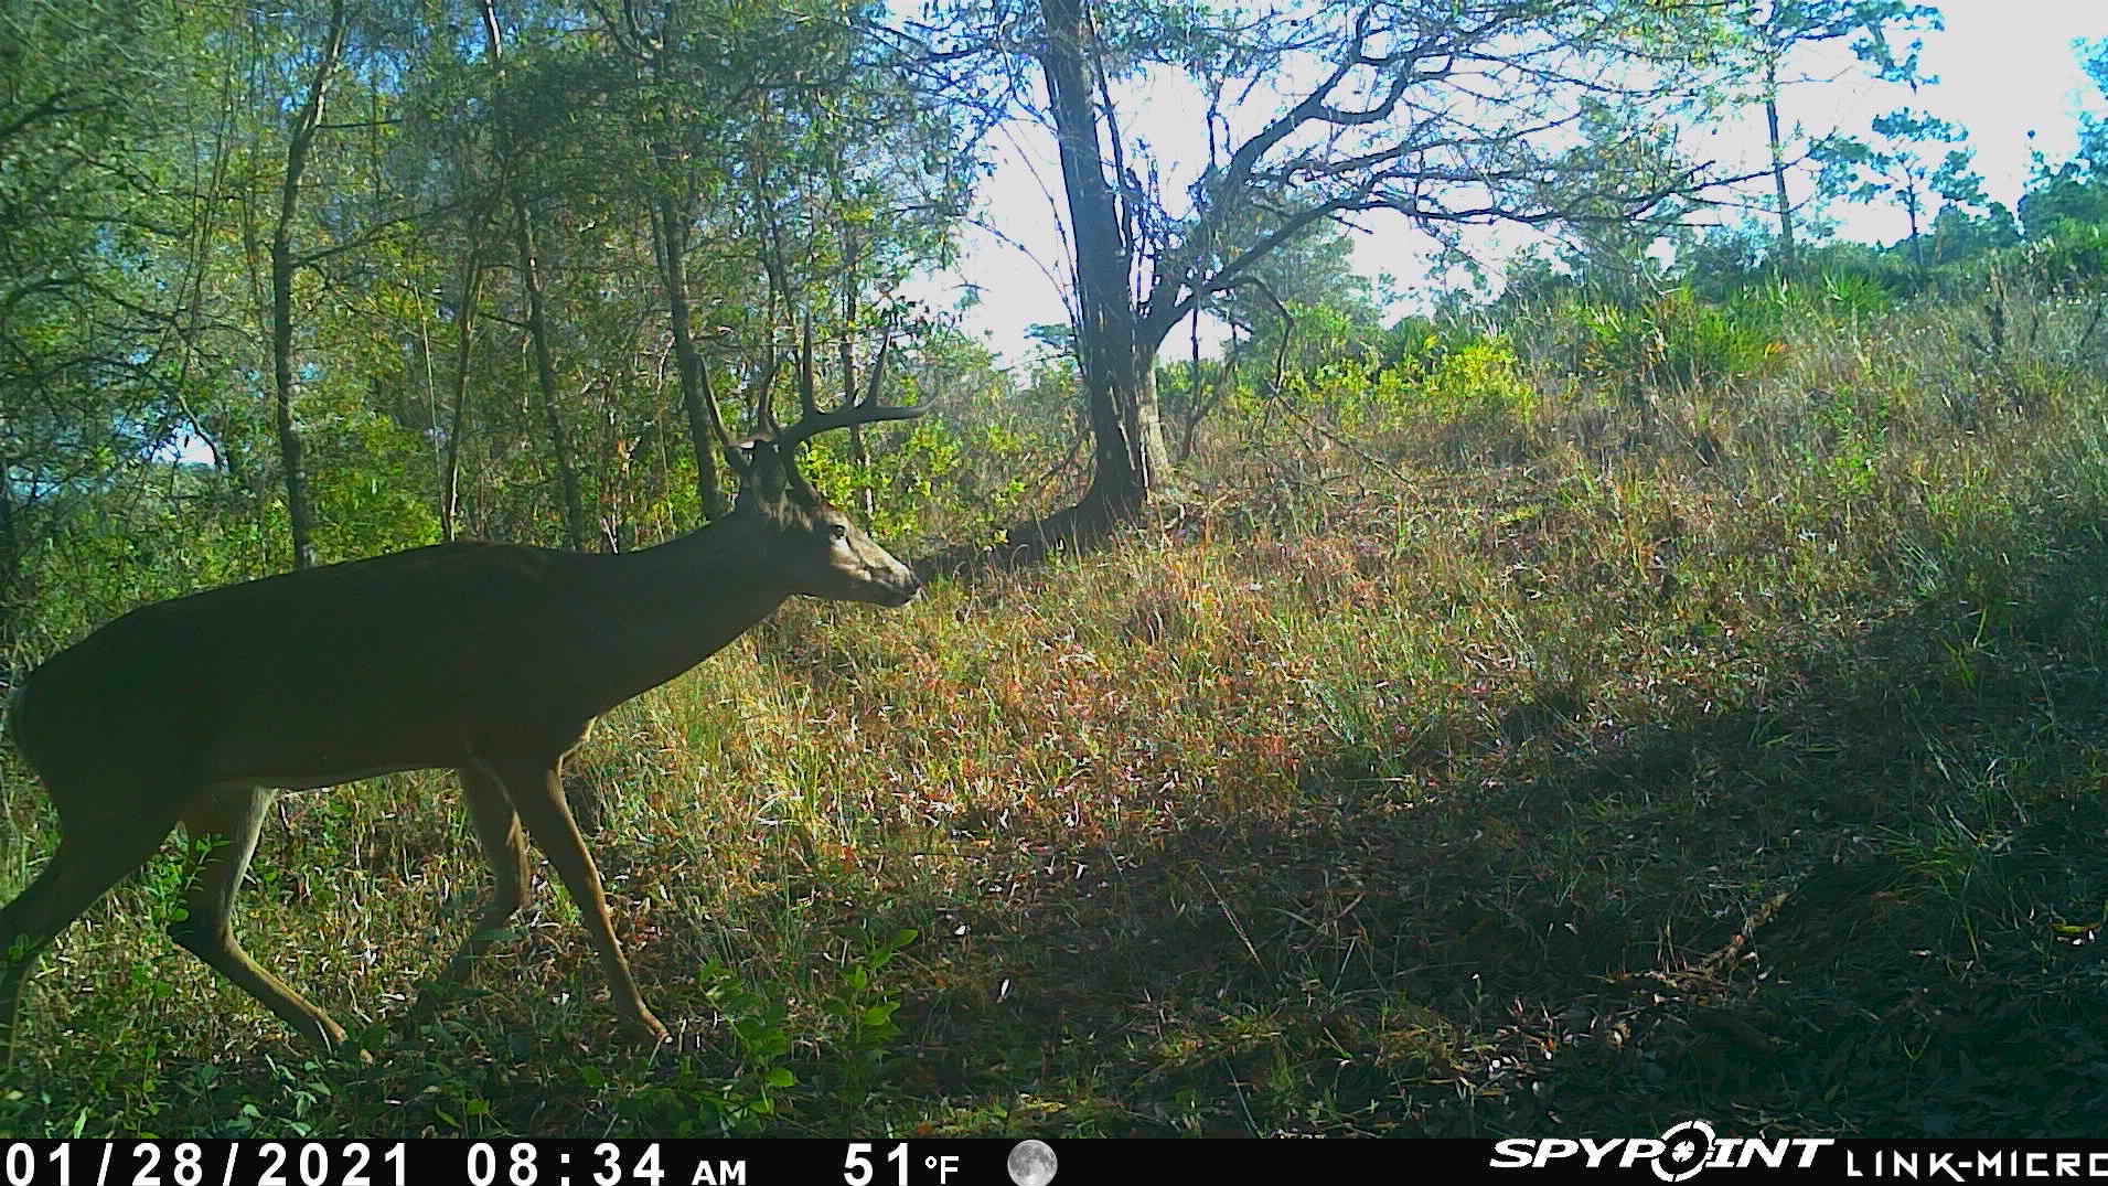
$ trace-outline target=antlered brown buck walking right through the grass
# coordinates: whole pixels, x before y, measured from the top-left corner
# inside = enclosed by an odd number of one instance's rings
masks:
[[[192,868],[169,937],[297,1036],[339,1051],[344,1026],[242,950],[234,900],[280,790],[417,769],[457,773],[493,881],[436,984],[468,975],[525,906],[533,838],[584,918],[622,1028],[666,1041],[565,803],[563,760],[594,718],[702,664],[790,596],[881,607],[917,596],[915,573],[797,468],[799,444],[822,432],[925,411],[877,402],[885,341],[866,392],[850,386],[822,413],[807,322],[803,417],[776,423],[772,348],[755,383],[761,432],[738,444],[706,388],[738,497],[731,514],[656,548],[453,541],[280,573],[135,609],[25,676],[6,725],[57,811],[59,843],[0,908],[0,1068],[15,1064],[38,956],[177,824]],[[419,992],[413,1017],[432,999]]]

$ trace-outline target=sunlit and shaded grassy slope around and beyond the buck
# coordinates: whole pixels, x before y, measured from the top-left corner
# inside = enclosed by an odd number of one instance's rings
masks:
[[[546,870],[405,1032],[485,893],[453,788],[285,796],[242,933],[377,1060],[164,942],[171,853],[46,961],[0,1131],[2091,1133],[2108,390],[1958,350],[1221,440],[1098,554],[786,607],[567,769],[664,1049]]]

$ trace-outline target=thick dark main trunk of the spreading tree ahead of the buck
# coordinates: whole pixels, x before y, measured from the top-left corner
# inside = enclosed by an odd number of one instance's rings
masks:
[[[1086,0],[1041,0],[1046,72],[1060,145],[1062,194],[1075,236],[1077,364],[1092,436],[1092,480],[1075,508],[1081,525],[1136,516],[1170,474],[1157,413],[1155,354],[1162,335],[1143,335],[1130,295],[1132,255],[1098,147],[1086,46]],[[1155,337],[1153,341],[1143,341]]]

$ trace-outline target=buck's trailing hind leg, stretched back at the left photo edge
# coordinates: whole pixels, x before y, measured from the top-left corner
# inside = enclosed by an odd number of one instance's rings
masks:
[[[112,885],[143,866],[173,828],[173,813],[156,817],[150,811],[78,819],[72,832],[59,836],[59,851],[44,872],[0,910],[0,1070],[15,1064],[15,1013],[36,958]]]

